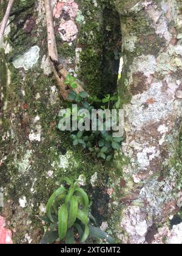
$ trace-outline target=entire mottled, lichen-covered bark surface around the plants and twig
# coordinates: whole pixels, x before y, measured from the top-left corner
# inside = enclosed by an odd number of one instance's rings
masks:
[[[99,226],[118,243],[180,243],[181,221],[172,216],[182,206],[181,5],[52,0],[59,60],[89,93],[116,91],[123,38],[124,142],[115,161],[104,163],[55,129],[67,104],[47,60],[44,1],[16,1],[0,59],[0,213],[13,243],[39,243],[38,216],[59,179],[80,175]],[[179,224],[173,229],[171,219]]]

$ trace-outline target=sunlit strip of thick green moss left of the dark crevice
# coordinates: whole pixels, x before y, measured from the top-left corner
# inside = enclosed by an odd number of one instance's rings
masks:
[[[89,93],[101,92],[101,59],[103,54],[103,20],[100,16],[101,3],[96,8],[90,1],[77,1],[83,13],[85,24],[79,26],[78,44],[81,45],[79,78]]]

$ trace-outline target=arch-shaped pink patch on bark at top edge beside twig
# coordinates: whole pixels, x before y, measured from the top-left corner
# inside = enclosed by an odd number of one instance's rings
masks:
[[[69,18],[74,19],[78,13],[78,4],[73,0],[67,2],[57,2],[53,8],[53,16],[59,18],[61,15],[67,15]]]

